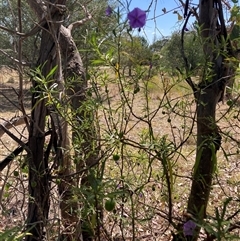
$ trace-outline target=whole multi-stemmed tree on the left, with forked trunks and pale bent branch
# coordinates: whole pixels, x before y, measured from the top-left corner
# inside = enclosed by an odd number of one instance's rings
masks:
[[[62,199],[60,204],[61,216],[67,233],[63,234],[63,237],[81,240],[83,236],[84,240],[91,240],[91,234],[86,230],[81,230],[84,220],[79,214],[79,201],[72,200],[73,189],[77,186],[79,180],[78,175],[74,175],[74,173],[81,172],[84,174],[84,171],[81,170],[84,168],[88,170],[89,167],[96,165],[99,159],[95,148],[96,143],[94,143],[96,133],[94,126],[91,124],[93,123],[93,116],[91,112],[84,109],[87,79],[72,32],[92,19],[92,15],[87,9],[88,6],[78,3],[74,5],[73,10],[76,11],[76,6],[80,6],[84,12],[84,18],[65,25],[69,14],[66,1],[41,1],[41,3],[37,3],[29,0],[28,3],[38,18],[39,31],[41,31],[41,45],[36,65],[40,66],[41,72],[35,72],[32,78],[34,92],[30,118],[30,152],[28,155],[30,194],[28,226],[30,226],[32,236],[27,237],[26,240],[42,239],[44,226],[48,219],[50,192],[48,158],[52,142],[50,140],[47,149],[45,149],[44,130],[45,118],[49,113],[52,122],[51,138],[55,139],[56,145],[54,164],[59,168],[59,194]],[[54,69],[56,72],[53,72]],[[50,80],[48,79],[49,76]],[[57,108],[56,102],[50,103],[51,109],[49,110],[47,100],[42,98],[41,95],[39,96],[38,93],[41,91],[44,81],[47,87],[50,87],[53,83],[57,84],[55,85],[57,92],[59,92],[57,103],[61,105],[61,110]],[[67,96],[70,96],[70,98],[68,99]],[[62,108],[69,102],[70,120],[67,115],[68,109]],[[72,129],[71,142],[75,150],[76,168],[74,168],[70,155],[71,149],[69,149],[71,148],[68,136],[69,122]],[[87,170],[85,173],[87,173]],[[83,225],[87,226],[86,223]]]

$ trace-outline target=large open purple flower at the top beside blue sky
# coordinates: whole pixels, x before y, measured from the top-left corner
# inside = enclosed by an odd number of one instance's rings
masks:
[[[134,8],[128,13],[129,24],[132,28],[142,28],[146,24],[147,14],[140,8]]]

